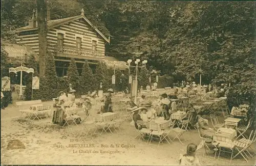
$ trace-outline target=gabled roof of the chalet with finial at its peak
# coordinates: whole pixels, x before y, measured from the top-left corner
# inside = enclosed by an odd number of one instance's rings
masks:
[[[68,17],[68,18],[62,18],[62,19],[56,19],[56,20],[49,20],[47,21],[47,29],[50,30],[53,27],[77,20],[83,18],[90,26],[93,27],[93,29],[108,43],[110,43],[110,38],[106,38],[98,29],[95,27],[87,18],[84,16],[84,12],[82,10],[81,15],[74,16],[74,17]],[[30,31],[30,30],[37,30],[37,27],[31,27],[31,26],[24,26],[16,29],[17,32],[23,32],[23,31]]]

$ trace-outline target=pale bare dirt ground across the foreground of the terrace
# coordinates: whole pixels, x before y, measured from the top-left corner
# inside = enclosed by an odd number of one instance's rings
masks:
[[[48,104],[53,102],[44,102],[44,105]],[[51,118],[30,123],[17,121],[19,115],[14,104],[1,110],[1,164],[177,165],[187,144],[200,143],[195,129],[184,133],[187,141],[182,140],[183,145],[174,140],[171,145],[164,142],[158,147],[157,143],[149,145],[135,140],[137,132],[130,125],[131,120],[126,120],[121,130],[113,134],[85,136],[81,125],[59,129],[51,123]],[[173,138],[174,134],[170,133],[169,137]],[[12,140],[19,140],[25,149],[9,149],[8,143]],[[83,146],[75,147],[74,144]],[[238,156],[230,163],[225,155],[219,160],[203,157],[203,151],[202,148],[197,152],[202,165],[255,165],[253,158],[246,162]]]

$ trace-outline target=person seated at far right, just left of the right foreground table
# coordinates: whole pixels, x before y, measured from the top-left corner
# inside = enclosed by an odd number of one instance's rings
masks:
[[[205,138],[211,138],[214,135],[214,130],[208,127],[207,120],[198,115],[198,124],[200,126],[200,135]]]

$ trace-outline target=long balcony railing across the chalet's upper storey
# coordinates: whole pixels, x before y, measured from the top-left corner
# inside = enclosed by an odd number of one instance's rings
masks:
[[[61,54],[69,54],[74,56],[81,56],[81,57],[93,57],[93,58],[104,58],[103,51],[91,51],[82,48],[73,48],[67,47],[62,45],[57,45],[57,53]]]

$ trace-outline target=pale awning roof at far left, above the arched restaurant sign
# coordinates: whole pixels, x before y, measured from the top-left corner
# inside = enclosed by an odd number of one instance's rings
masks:
[[[15,58],[15,60],[27,59],[30,54],[33,54],[35,57],[35,61],[39,60],[38,55],[33,51],[30,46],[26,45],[18,45],[11,43],[3,43],[4,50],[9,54],[10,58]]]

